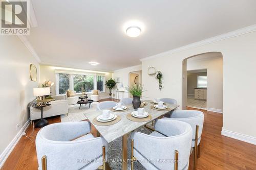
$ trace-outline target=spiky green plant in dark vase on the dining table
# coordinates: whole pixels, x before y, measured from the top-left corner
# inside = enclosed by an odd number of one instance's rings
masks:
[[[133,101],[132,101],[133,107],[134,109],[138,109],[141,103],[140,97],[142,92],[144,91],[143,85],[138,84],[138,85],[127,86],[125,87],[125,89],[133,95]]]

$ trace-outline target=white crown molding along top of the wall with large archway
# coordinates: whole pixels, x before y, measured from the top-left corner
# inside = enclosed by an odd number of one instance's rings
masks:
[[[254,32],[254,31],[256,31],[256,25],[251,25],[251,26],[248,26],[248,27],[245,27],[245,28],[242,28],[242,29],[238,29],[238,30],[235,30],[235,31],[231,31],[231,32],[228,32],[228,33],[225,33],[225,34],[215,36],[215,37],[211,37],[211,38],[204,39],[204,40],[201,40],[201,41],[198,41],[198,42],[194,42],[194,43],[191,43],[191,44],[188,44],[188,45],[184,45],[184,46],[181,46],[181,47],[178,47],[178,48],[174,48],[173,50],[169,50],[169,51],[159,53],[159,54],[156,54],[156,55],[153,55],[153,56],[145,57],[145,58],[140,59],[140,61],[146,61],[146,60],[149,60],[149,59],[178,53],[178,52],[181,52],[181,51],[184,51],[184,50],[188,50],[189,48],[195,48],[195,47],[198,47],[198,46],[214,43],[214,42],[217,42],[217,41],[221,41],[221,40],[224,40],[224,39],[240,36],[240,35],[243,35],[243,34],[246,34],[246,33]]]

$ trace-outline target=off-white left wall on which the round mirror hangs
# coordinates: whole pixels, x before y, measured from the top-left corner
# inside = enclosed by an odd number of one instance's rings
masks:
[[[29,119],[27,105],[35,99],[33,88],[37,82],[30,80],[29,67],[34,64],[39,76],[39,65],[27,47],[17,36],[1,36],[0,38],[0,165],[3,163],[11,142],[14,143],[21,134],[22,127]],[[16,130],[16,125],[20,125]],[[8,147],[9,146],[9,147]]]

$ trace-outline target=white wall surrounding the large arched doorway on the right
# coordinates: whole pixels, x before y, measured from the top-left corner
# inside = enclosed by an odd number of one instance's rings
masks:
[[[223,55],[223,129],[242,134],[242,136],[247,135],[256,143],[255,47],[256,32],[253,31],[144,59],[142,60],[142,83],[147,90],[145,94],[151,98],[174,98],[181,104],[183,60],[202,53],[221,52]],[[155,78],[147,75],[147,68],[150,66],[156,67],[163,73],[163,89],[160,92]]]

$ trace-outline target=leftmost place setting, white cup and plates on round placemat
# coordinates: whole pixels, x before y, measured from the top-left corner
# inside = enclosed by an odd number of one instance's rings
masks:
[[[114,125],[121,120],[119,115],[110,113],[110,110],[102,110],[102,114],[93,119],[93,124],[98,126]]]

